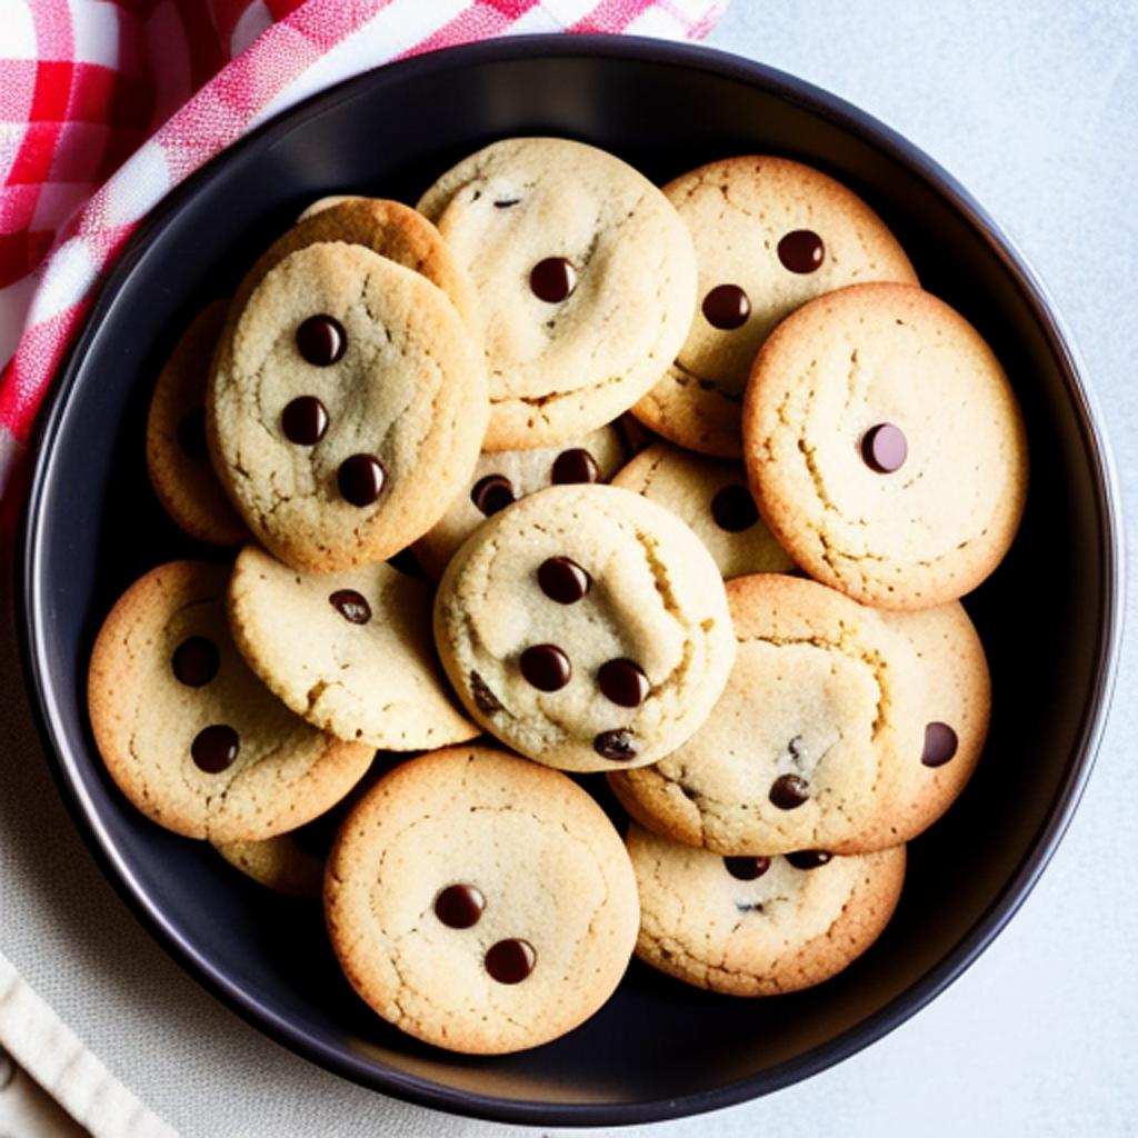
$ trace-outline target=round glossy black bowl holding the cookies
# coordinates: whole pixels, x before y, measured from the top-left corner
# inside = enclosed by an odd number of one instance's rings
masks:
[[[510,134],[563,134],[665,180],[773,151],[861,193],[925,286],[1007,366],[1026,415],[1028,512],[970,599],[995,683],[991,736],[962,800],[912,846],[885,934],[822,987],[747,1003],[634,964],[568,1037],[494,1059],[387,1026],[352,993],[319,913],[249,885],[151,825],[107,780],[84,709],[99,622],[135,577],[201,550],[166,520],[143,465],[157,369],[312,199],[414,201],[455,159]],[[959,440],[967,447],[967,439]],[[852,107],[766,67],[649,41],[516,39],[361,76],[288,112],[173,192],[102,288],[56,386],[22,546],[27,674],[59,785],[104,871],[189,972],[288,1047],[366,1086],[516,1122],[644,1122],[736,1103],[877,1039],[1003,927],[1070,820],[1098,741],[1119,628],[1116,492],[1070,348],[1039,284],[934,163]]]

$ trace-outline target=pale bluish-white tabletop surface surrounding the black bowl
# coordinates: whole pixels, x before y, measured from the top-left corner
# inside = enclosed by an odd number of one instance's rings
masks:
[[[876,115],[956,175],[1033,262],[1087,364],[1123,496],[1138,492],[1138,3],[733,0],[708,41]],[[1130,563],[1138,563],[1132,550]],[[1131,597],[1138,589],[1131,587]],[[1133,602],[1131,601],[1131,617]],[[1046,620],[1047,613],[1041,612]],[[628,1135],[1138,1130],[1138,625],[1106,740],[1055,859],[930,1007],[805,1083]],[[10,645],[0,665],[13,666]],[[11,671],[8,671],[11,675]],[[269,1042],[190,981],[99,876],[0,695],[2,946],[110,1069],[187,1138],[526,1132],[407,1106]],[[536,1131],[533,1131],[536,1133]]]

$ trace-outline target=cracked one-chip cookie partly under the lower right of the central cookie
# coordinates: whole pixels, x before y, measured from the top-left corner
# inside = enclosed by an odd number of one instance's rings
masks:
[[[655,766],[610,774],[617,797],[642,825],[721,855],[893,844],[883,789],[925,724],[912,648],[811,580],[726,587],[739,651],[719,702]]]

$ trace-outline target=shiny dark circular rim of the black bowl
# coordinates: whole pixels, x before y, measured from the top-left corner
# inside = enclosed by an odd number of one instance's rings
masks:
[[[49,682],[43,633],[46,615],[38,604],[42,530],[41,505],[49,480],[55,440],[86,349],[113,298],[134,272],[150,240],[220,163],[255,160],[256,155],[283,139],[299,119],[328,113],[356,97],[366,85],[398,83],[405,76],[431,75],[480,64],[534,58],[605,58],[630,63],[663,63],[707,72],[758,88],[884,151],[908,167],[945,198],[1003,264],[1031,307],[1063,376],[1079,420],[1088,455],[1098,521],[1105,535],[1102,550],[1098,643],[1094,683],[1079,724],[1077,743],[1047,820],[1033,836],[1015,872],[972,927],[916,983],[884,1007],[827,1042],[785,1059],[761,1074],[711,1090],[675,1098],[625,1103],[544,1103],[445,1087],[348,1054],[315,1040],[253,993],[238,988],[185,942],[146,888],[119,856],[86,794],[79,767],[83,760],[67,744],[59,707]],[[640,36],[525,35],[447,48],[372,68],[310,96],[274,115],[216,155],[175,187],[139,224],[125,249],[101,282],[82,328],[75,337],[39,417],[28,450],[32,460],[28,490],[17,536],[14,601],[25,684],[36,728],[57,786],[88,849],[139,922],[166,953],[226,1007],[294,1054],[370,1089],[454,1114],[498,1122],[541,1125],[626,1125],[677,1119],[733,1106],[787,1087],[830,1067],[869,1046],[920,1012],[956,980],[999,934],[1034,887],[1071,822],[1086,787],[1105,729],[1106,712],[1118,674],[1123,616],[1123,542],[1120,495],[1114,463],[1096,398],[1082,379],[1085,369],[1069,330],[1038,274],[996,221],[943,167],[902,135],[852,104],[793,75],[717,49]]]

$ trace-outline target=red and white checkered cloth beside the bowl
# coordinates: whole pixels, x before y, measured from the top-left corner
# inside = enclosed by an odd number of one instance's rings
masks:
[[[8,520],[20,496],[13,476],[94,284],[146,213],[251,126],[405,56],[531,32],[699,39],[725,6],[0,0],[0,308],[9,323],[26,311],[0,376]]]

